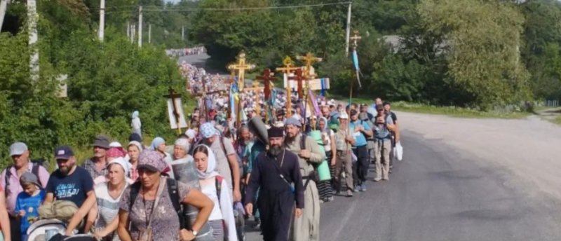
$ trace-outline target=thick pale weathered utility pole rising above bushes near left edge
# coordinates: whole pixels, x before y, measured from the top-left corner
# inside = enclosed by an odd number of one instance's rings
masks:
[[[27,31],[29,32],[29,47],[33,52],[29,57],[29,70],[32,81],[39,80],[39,49],[36,46],[37,39],[37,2],[27,0]]]

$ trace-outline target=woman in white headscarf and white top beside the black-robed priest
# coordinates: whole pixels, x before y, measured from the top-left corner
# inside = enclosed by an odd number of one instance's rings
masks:
[[[205,145],[197,146],[193,153],[201,191],[215,204],[208,217],[208,223],[213,229],[213,237],[216,241],[222,241],[224,237],[229,241],[238,240],[228,183],[216,172],[214,153]]]

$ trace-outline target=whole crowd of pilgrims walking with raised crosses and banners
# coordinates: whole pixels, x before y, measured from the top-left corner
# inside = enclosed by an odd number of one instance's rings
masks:
[[[179,93],[164,95],[175,140],[144,145],[135,111],[127,144],[97,135],[80,165],[58,146],[53,173],[15,142],[1,172],[4,240],[242,241],[249,228],[266,241],[320,240],[321,204],[367,191],[370,164],[374,182],[388,181],[403,148],[389,102],[326,99],[321,59],[296,59],[274,70],[282,81],[271,69],[247,80],[255,65],[243,52],[226,77],[182,62],[197,104],[185,115]]]

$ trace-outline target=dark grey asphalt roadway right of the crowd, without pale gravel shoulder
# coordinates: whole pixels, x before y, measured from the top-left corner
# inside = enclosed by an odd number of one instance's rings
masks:
[[[402,137],[405,157],[390,181],[369,181],[365,193],[322,205],[322,241],[561,240],[560,198],[485,155],[447,144],[456,139],[426,139],[414,130]],[[248,240],[261,240],[259,232],[249,229]]]

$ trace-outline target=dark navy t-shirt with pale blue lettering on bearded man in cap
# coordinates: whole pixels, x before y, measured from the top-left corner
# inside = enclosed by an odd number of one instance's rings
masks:
[[[79,166],[69,176],[56,170],[50,174],[45,191],[53,193],[55,200],[71,201],[81,207],[86,200],[86,193],[93,191],[93,179],[90,172]]]

